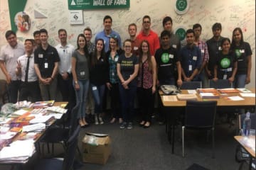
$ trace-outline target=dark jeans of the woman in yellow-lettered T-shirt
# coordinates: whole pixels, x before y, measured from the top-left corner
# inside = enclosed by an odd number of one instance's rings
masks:
[[[122,116],[124,122],[132,122],[134,115],[134,98],[137,91],[137,86],[129,86],[129,89],[124,89],[122,84],[119,84],[119,93],[122,106]]]

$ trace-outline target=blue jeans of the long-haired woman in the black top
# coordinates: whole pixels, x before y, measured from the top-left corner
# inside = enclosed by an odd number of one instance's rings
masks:
[[[102,103],[105,92],[105,84],[99,86],[90,84],[90,89],[92,90],[92,96],[95,100],[95,113],[102,113]]]

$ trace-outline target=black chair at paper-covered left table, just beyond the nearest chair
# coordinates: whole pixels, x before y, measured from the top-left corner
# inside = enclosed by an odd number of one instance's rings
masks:
[[[49,128],[48,130],[46,130],[46,134],[40,140],[40,142],[43,142],[42,153],[44,151],[45,143],[47,144],[47,147],[48,147],[48,153],[50,153],[49,144],[52,145],[51,154],[54,154],[54,144],[58,143],[60,145],[63,145],[63,148],[65,149],[65,147],[67,146],[67,142],[70,134],[72,134],[74,129],[78,126],[78,118],[77,118],[78,109],[79,109],[78,105],[72,109],[71,118],[70,118],[70,127],[63,128],[61,126],[53,125],[53,128]]]

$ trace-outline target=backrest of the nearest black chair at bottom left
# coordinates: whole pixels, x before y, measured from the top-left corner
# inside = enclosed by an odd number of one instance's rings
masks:
[[[75,161],[75,151],[78,147],[78,136],[80,132],[80,126],[78,125],[73,134],[68,139],[68,147],[65,151],[65,157],[63,160],[63,170],[73,169]]]

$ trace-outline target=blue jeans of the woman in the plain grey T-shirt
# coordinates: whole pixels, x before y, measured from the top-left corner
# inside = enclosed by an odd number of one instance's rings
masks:
[[[85,101],[89,89],[89,80],[78,80],[80,89],[75,90],[76,104],[79,105],[78,118],[85,118]],[[75,82],[73,81],[75,88]]]

